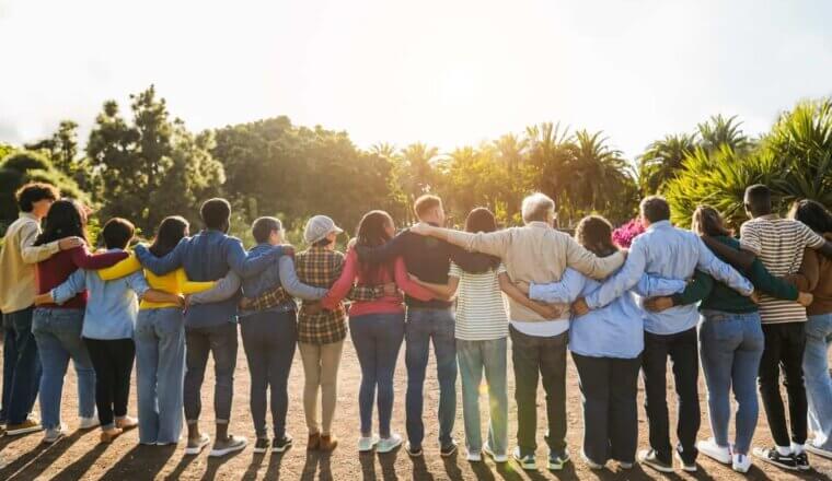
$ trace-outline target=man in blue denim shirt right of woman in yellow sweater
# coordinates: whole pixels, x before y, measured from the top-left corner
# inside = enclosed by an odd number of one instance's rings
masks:
[[[223,278],[229,270],[245,279],[274,266],[277,257],[284,254],[284,248],[277,246],[259,257],[247,258],[242,242],[227,235],[231,206],[226,199],[205,201],[199,215],[205,230],[193,237],[182,239],[165,257],[158,258],[145,246],[137,246],[136,256],[141,265],[157,275],[164,275],[183,267],[192,281],[216,281]],[[238,291],[226,301],[192,305],[185,315],[187,369],[184,404],[188,427],[185,454],[199,454],[210,443],[210,437],[199,431],[200,389],[209,353],[213,356],[216,372],[213,409],[217,424],[217,439],[210,456],[224,456],[245,448],[247,444],[245,437],[228,433],[236,366],[239,300]]]

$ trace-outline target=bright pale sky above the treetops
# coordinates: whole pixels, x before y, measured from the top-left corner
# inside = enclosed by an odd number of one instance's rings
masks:
[[[830,21],[828,0],[0,0],[0,142],[85,137],[152,83],[194,130],[286,115],[450,151],[559,121],[632,159],[832,95]]]

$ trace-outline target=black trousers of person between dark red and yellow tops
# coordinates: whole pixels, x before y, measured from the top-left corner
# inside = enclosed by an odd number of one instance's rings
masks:
[[[102,427],[115,426],[115,418],[127,415],[130,398],[130,374],[136,357],[132,339],[89,339],[84,344],[95,369],[95,407]]]

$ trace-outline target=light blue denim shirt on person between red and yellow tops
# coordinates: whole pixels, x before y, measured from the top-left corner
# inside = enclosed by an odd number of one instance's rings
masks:
[[[111,249],[118,250],[118,249]],[[150,290],[141,270],[127,277],[103,281],[94,270],[78,269],[53,289],[56,304],[63,304],[76,294],[86,290],[86,312],[81,336],[89,339],[131,339],[139,297]]]

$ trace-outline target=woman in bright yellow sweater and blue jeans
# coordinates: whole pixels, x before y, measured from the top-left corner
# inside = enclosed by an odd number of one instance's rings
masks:
[[[159,224],[150,253],[164,257],[184,237],[188,222],[169,216]],[[123,278],[141,270],[136,256],[100,271],[104,280]],[[154,290],[174,295],[194,294],[215,286],[215,282],[190,282],[184,269],[165,275],[145,271]],[[136,320],[136,384],[139,402],[139,443],[169,445],[182,432],[183,378],[185,376],[185,325],[181,303],[142,300]]]

